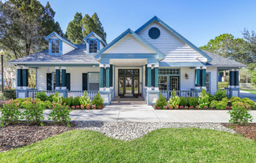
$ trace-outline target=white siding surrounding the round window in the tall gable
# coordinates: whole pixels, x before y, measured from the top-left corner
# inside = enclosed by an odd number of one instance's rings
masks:
[[[159,38],[149,38],[148,31],[152,27],[159,28],[161,33]],[[139,35],[166,55],[163,62],[196,62],[198,61],[196,57],[201,61],[207,60],[157,22],[149,24],[148,27],[139,32]]]

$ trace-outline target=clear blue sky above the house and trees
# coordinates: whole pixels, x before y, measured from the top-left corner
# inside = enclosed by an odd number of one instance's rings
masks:
[[[130,28],[136,31],[153,16],[183,35],[196,46],[229,33],[243,38],[242,31],[256,31],[254,0],[39,0],[49,2],[56,12],[54,19],[65,32],[75,13],[97,13],[107,42]]]

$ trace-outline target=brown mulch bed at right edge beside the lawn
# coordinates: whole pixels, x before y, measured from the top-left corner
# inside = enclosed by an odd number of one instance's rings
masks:
[[[229,123],[222,123],[227,128],[230,128]],[[248,125],[233,125],[232,129],[240,133],[246,138],[254,139],[256,141],[256,123],[250,123]]]

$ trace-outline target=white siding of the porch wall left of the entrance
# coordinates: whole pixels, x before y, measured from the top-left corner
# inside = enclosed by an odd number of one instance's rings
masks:
[[[46,90],[46,74],[48,67],[38,68],[38,90]],[[99,67],[67,67],[67,73],[70,73],[71,90],[82,90],[82,73],[100,72]],[[49,67],[49,73],[55,72],[55,67]]]

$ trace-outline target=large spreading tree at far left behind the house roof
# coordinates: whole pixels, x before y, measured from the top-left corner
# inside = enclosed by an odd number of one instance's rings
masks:
[[[45,7],[37,0],[9,0],[0,5],[0,48],[11,58],[46,49],[44,38],[52,31],[62,34],[49,3]]]

